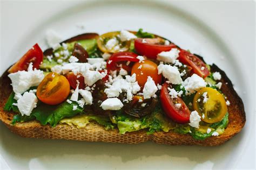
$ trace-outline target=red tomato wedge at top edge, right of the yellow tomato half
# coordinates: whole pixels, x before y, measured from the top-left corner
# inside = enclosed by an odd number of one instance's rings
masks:
[[[143,43],[144,40],[151,40],[150,38],[137,38],[134,40],[134,47],[136,51],[140,55],[145,55],[147,58],[150,59],[157,59],[157,54],[163,51],[170,51],[172,48],[177,48],[176,45],[158,45],[158,44],[150,44],[150,43]]]

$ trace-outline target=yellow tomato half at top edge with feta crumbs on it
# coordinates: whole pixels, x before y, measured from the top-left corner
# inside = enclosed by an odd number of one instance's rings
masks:
[[[110,44],[107,45],[109,41],[112,41]],[[108,32],[102,34],[97,40],[98,47],[100,51],[106,53],[116,53],[119,51],[128,51],[130,48],[131,41],[124,41],[120,40],[120,32]]]

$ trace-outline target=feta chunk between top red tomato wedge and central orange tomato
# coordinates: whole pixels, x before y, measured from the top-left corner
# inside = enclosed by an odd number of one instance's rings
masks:
[[[172,48],[171,51],[163,51],[157,54],[158,61],[164,61],[166,63],[174,63],[176,59],[179,57],[179,49]]]

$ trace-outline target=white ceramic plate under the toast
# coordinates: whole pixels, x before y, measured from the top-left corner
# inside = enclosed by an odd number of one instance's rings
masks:
[[[239,12],[237,12],[239,11]],[[254,9],[232,2],[2,2],[2,74],[35,42],[44,49],[46,30],[63,39],[82,32],[127,29],[156,33],[217,63],[245,104],[247,122],[218,147],[137,145],[25,139],[1,126],[1,167],[6,169],[198,169],[253,168]],[[84,26],[82,29],[81,26]],[[232,103],[231,103],[232,104]]]

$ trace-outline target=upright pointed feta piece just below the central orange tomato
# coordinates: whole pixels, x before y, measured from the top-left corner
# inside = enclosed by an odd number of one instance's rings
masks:
[[[144,88],[143,88],[144,98],[147,99],[147,98],[153,97],[154,94],[156,94],[157,89],[158,88],[157,88],[156,84],[154,83],[152,77],[148,76],[147,82],[145,83]]]

